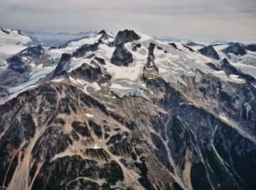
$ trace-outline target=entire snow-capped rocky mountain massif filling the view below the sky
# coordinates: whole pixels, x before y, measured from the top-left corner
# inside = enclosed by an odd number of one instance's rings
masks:
[[[0,189],[256,189],[253,45],[24,49],[1,68]]]

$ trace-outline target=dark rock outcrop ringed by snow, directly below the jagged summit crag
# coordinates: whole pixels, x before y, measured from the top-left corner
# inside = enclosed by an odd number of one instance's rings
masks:
[[[123,45],[117,45],[110,62],[117,66],[128,66],[132,62],[132,53],[129,52]]]

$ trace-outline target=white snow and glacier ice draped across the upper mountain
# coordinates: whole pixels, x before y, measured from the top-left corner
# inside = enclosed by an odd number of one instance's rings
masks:
[[[6,39],[7,37],[2,38],[1,40],[5,39],[4,40],[5,42],[10,42],[13,40],[12,42],[14,43],[19,41],[21,42],[21,44],[28,43],[30,40],[26,36],[18,35],[17,31],[10,30],[10,32],[11,32],[11,40],[7,40]],[[136,33],[140,37],[139,40],[134,40],[130,43],[124,44],[124,47],[129,52],[132,53],[133,61],[132,63],[129,64],[129,67],[122,67],[122,66],[120,67],[110,62],[113,52],[115,50],[115,47],[109,44],[112,43],[112,41],[114,40],[114,35],[112,35],[112,33],[110,32],[107,32],[107,34],[110,35],[110,38],[108,38],[107,40],[102,40],[103,43],[101,43],[98,46],[98,50],[94,52],[87,52],[83,57],[71,58],[71,62],[70,62],[71,68],[68,70],[68,72],[72,72],[73,70],[77,69],[84,63],[87,63],[88,65],[91,65],[92,67],[94,67],[94,65],[91,64],[92,60],[94,60],[95,57],[100,57],[105,60],[105,65],[101,65],[97,61],[95,62],[97,62],[97,64],[102,68],[102,70],[104,70],[104,72],[111,74],[112,79],[110,79],[110,84],[106,84],[106,85],[108,85],[108,87],[110,88],[111,91],[114,92],[114,94],[117,94],[118,96],[129,96],[129,95],[137,94],[139,96],[144,96],[146,98],[146,96],[143,94],[143,89],[146,89],[146,87],[143,84],[141,77],[142,77],[143,69],[144,69],[144,66],[146,65],[146,60],[148,57],[148,47],[150,43],[154,43],[156,45],[156,47],[154,48],[154,57],[155,57],[154,64],[159,69],[159,74],[161,75],[161,77],[163,77],[167,82],[172,82],[172,83],[179,82],[186,86],[187,84],[183,80],[183,76],[195,77],[196,69],[200,69],[204,73],[213,74],[224,81],[235,82],[235,83],[245,82],[243,79],[240,79],[235,74],[231,74],[230,76],[228,76],[227,74],[225,74],[224,71],[215,71],[214,69],[208,67],[206,63],[211,62],[214,65],[219,65],[219,61],[211,59],[204,55],[201,55],[201,53],[199,53],[197,50],[198,46],[191,46],[191,48],[195,50],[195,52],[192,52],[187,47],[185,47],[182,43],[175,42],[175,45],[177,47],[176,49],[173,46],[169,45],[169,43],[156,40],[156,38],[153,38],[149,35],[145,35],[143,33],[139,33],[139,32],[136,32]],[[1,32],[1,35],[6,36],[7,34]],[[82,45],[98,43],[99,40],[102,38],[102,36],[103,36],[102,34],[97,34],[92,36],[91,38],[70,42],[67,45],[65,45],[65,47],[62,47],[62,48],[56,48],[56,49],[48,48],[46,49],[46,52],[48,55],[50,55],[51,58],[56,58],[56,57],[60,58],[63,53],[72,54],[73,52],[75,52],[75,50],[77,50]],[[140,44],[141,47],[138,47],[137,50],[134,51],[132,50],[132,47],[134,46],[134,44]],[[228,47],[228,45],[214,46],[215,50],[220,55],[221,60],[223,58],[229,58],[227,57],[227,55],[225,55],[222,52],[222,50],[225,47]],[[21,48],[21,45],[18,46],[17,48]],[[90,56],[90,58],[87,58],[88,56]],[[235,57],[235,55],[230,55],[230,56],[231,56],[231,59],[228,59],[230,61],[230,64],[234,65],[235,67],[240,69],[242,72],[251,74],[252,77],[256,77],[256,63],[255,65],[245,64],[245,62],[247,62],[248,60],[251,60],[252,62],[256,60],[255,52],[249,52],[247,55],[244,55],[243,57]],[[9,89],[9,92],[13,94],[13,93],[16,93],[17,91],[21,91],[23,88],[26,88],[29,85],[34,84],[35,82],[38,81],[38,79],[41,79],[45,77],[46,74],[53,72],[55,67],[56,66],[43,68],[42,65],[33,67],[30,80],[25,84]],[[80,79],[73,79],[71,77],[70,77],[70,81],[73,84],[80,86],[80,88],[86,93],[88,93],[86,91],[88,86],[96,90],[101,89],[101,87],[97,83],[90,84]],[[52,82],[61,82],[61,80],[55,79]]]

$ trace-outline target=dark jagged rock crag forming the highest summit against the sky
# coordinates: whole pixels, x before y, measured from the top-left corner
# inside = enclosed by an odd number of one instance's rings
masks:
[[[114,38],[113,45],[124,45],[124,43],[129,43],[139,39],[139,35],[137,35],[137,33],[135,33],[134,30],[123,30],[117,33],[116,38]]]

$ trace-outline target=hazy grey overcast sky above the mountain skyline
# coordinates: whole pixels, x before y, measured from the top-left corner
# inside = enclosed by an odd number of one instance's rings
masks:
[[[0,26],[256,42],[256,0],[0,0]]]

